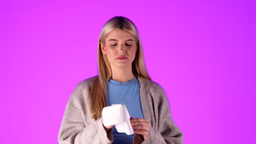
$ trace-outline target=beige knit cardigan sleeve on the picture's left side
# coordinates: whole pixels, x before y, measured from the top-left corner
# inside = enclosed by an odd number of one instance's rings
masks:
[[[85,143],[112,143],[112,129],[106,131],[102,125],[102,118],[86,119],[79,105],[79,95],[82,87],[77,86],[69,98],[65,114],[62,119],[58,140],[60,144],[85,144]],[[80,95],[81,96],[81,95]],[[83,95],[84,96],[84,95]],[[85,117],[85,119],[83,118]]]

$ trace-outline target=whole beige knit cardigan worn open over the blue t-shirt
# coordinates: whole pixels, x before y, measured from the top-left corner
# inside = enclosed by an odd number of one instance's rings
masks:
[[[106,133],[102,118],[90,118],[88,93],[97,76],[80,82],[68,100],[58,140],[60,144],[112,143],[112,129]],[[164,89],[158,83],[137,77],[144,118],[152,124],[149,136],[143,140],[135,134],[133,143],[183,143],[183,134],[171,118],[170,105]],[[112,140],[112,141],[110,141]]]

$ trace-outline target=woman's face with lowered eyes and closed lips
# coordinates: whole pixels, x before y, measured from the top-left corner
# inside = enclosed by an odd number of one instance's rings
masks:
[[[110,67],[127,68],[131,64],[136,55],[136,40],[132,35],[121,29],[114,29],[107,35],[105,44],[101,43],[103,54],[107,55]]]

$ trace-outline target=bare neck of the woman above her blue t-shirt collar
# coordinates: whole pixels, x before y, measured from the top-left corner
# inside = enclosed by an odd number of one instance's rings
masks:
[[[131,67],[128,68],[116,68],[112,67],[112,80],[118,82],[131,81],[134,78]]]

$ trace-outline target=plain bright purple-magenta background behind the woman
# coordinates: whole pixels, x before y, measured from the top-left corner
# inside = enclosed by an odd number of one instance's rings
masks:
[[[256,143],[255,1],[1,1],[1,143],[57,143],[113,16],[136,23],[184,143]]]

